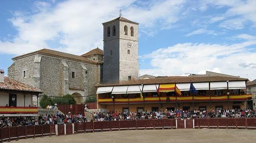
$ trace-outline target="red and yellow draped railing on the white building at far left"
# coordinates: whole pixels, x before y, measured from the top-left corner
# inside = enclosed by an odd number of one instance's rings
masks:
[[[25,114],[37,114],[37,107],[6,107],[0,106],[0,114],[14,114],[14,113],[25,113]]]

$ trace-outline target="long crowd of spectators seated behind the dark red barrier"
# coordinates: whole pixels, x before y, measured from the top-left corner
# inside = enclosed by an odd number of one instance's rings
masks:
[[[112,113],[93,113],[93,121],[111,121],[111,120],[150,120],[150,119],[194,119],[194,118],[254,118],[256,117],[256,109],[213,109],[206,110],[177,110],[177,111],[142,111],[138,112],[112,112]],[[83,114],[68,114],[63,115],[57,113],[56,115],[39,115],[34,117],[1,117],[0,128],[12,126],[32,126],[45,124],[64,124],[87,122]]]

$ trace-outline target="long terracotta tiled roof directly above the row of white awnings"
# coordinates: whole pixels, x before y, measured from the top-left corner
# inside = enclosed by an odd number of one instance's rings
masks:
[[[138,79],[134,81],[119,81],[115,83],[102,83],[97,87],[107,86],[121,86],[121,85],[150,85],[150,84],[165,84],[165,83],[198,83],[198,82],[217,82],[217,81],[247,81],[248,79],[240,77],[224,77],[224,76],[174,76],[165,78],[153,78],[153,79]]]

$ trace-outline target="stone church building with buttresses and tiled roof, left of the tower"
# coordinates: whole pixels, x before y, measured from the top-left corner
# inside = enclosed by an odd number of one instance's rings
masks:
[[[85,96],[96,94],[102,53],[99,48],[81,56],[41,49],[12,58],[8,77],[39,88],[48,96],[71,94],[77,103],[83,103]],[[36,104],[36,99],[33,101]]]

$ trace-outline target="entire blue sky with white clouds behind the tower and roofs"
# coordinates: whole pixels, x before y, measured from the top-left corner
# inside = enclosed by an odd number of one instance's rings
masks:
[[[103,49],[101,23],[120,8],[140,23],[140,75],[256,78],[255,0],[2,0],[0,68],[43,47],[76,55]]]

